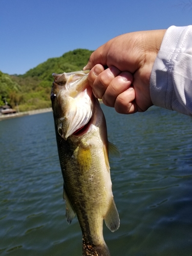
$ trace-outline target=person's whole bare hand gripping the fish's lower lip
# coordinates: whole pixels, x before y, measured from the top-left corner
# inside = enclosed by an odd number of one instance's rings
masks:
[[[123,34],[93,52],[83,70],[91,69],[88,80],[94,95],[121,114],[150,108],[150,76],[165,31]]]

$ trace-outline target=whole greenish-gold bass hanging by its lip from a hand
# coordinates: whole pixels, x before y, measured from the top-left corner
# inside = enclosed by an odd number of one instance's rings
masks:
[[[105,117],[88,74],[53,73],[51,101],[67,222],[77,215],[83,256],[110,256],[103,220],[112,232],[119,228],[109,164],[109,151],[115,155],[119,151],[108,141]]]

